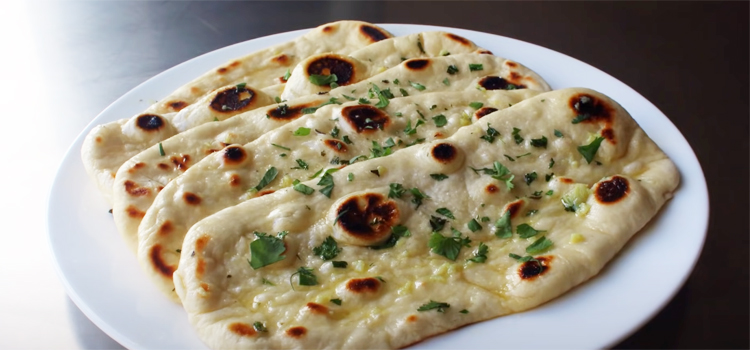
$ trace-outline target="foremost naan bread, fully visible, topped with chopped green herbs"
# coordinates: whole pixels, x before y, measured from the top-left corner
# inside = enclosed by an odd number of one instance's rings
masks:
[[[489,127],[500,133],[492,143],[480,138]],[[379,167],[385,174],[371,173]],[[533,308],[598,273],[671,198],[679,175],[616,102],[565,89],[330,180],[330,198],[315,179],[303,183],[310,195],[281,189],[190,229],[175,286],[210,347],[398,348]],[[279,249],[268,235],[283,231]],[[384,248],[394,231],[401,238]]]

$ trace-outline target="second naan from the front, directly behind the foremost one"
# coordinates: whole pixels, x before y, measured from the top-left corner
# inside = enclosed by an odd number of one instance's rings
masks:
[[[172,282],[179,260],[175,249],[182,246],[187,230],[204,217],[291,186],[295,179],[310,179],[324,168],[448,137],[485,114],[537,94],[528,89],[472,89],[396,98],[383,109],[373,106],[378,100],[325,106],[245,146],[232,145],[211,154],[167,184],[138,228],[138,258],[160,289],[177,300]],[[307,134],[295,136],[300,131]],[[278,172],[274,181],[254,190],[271,167]],[[185,196],[194,200],[186,202],[181,199]]]

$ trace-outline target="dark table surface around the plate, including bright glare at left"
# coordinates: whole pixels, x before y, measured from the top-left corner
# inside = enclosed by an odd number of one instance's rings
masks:
[[[33,128],[0,128],[6,169],[24,169],[0,175],[11,199],[0,204],[0,348],[122,348],[66,296],[45,228],[57,165],[101,110],[205,52],[340,19],[520,39],[587,62],[653,102],[695,150],[712,212],[687,283],[617,347],[750,347],[747,2],[4,2],[0,11],[0,110]],[[46,151],[18,151],[29,143]]]

